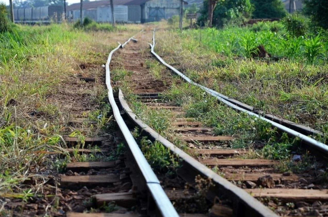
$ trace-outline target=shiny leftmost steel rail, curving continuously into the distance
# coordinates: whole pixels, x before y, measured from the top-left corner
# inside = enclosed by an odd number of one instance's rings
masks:
[[[129,39],[131,40],[131,38]],[[126,43],[125,43],[126,44]],[[108,55],[108,59],[105,65],[106,68],[106,86],[108,89],[108,99],[113,109],[114,118],[119,126],[131,152],[135,159],[137,166],[139,167],[144,179],[146,180],[146,185],[163,217],[178,217],[176,210],[174,209],[171,201],[165,194],[163,188],[160,185],[158,178],[156,177],[153,169],[148,164],[145,156],[141,152],[138,144],[134,140],[129,128],[126,126],[120,111],[115,103],[114,95],[113,95],[113,88],[111,86],[111,76],[110,76],[110,68],[109,64],[111,63],[113,53],[118,50],[122,45],[119,45],[113,49],[110,54]]]

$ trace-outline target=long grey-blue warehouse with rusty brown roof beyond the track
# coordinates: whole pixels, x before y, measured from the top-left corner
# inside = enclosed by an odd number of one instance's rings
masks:
[[[168,19],[179,14],[180,0],[113,0],[116,22],[144,23]],[[187,2],[184,2],[187,5]],[[80,3],[67,7],[69,20],[80,18]],[[83,17],[97,22],[112,22],[109,0],[83,3]]]

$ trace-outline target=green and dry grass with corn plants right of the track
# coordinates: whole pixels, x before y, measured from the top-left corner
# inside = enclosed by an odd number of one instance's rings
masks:
[[[155,51],[193,81],[256,109],[321,130],[326,137],[325,34],[294,37],[279,22],[262,24],[221,30],[158,30]],[[271,58],[253,57],[260,45]]]

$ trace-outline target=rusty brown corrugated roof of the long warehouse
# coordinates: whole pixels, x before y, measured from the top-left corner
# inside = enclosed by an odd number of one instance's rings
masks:
[[[151,0],[113,0],[113,4],[114,5],[141,5],[148,1]],[[185,0],[184,2],[187,3]],[[108,5],[111,5],[110,0],[83,2],[83,9],[92,9],[92,8],[98,8],[101,6],[108,6]],[[79,9],[80,9],[80,3],[75,3],[67,7],[67,10],[79,10]]]

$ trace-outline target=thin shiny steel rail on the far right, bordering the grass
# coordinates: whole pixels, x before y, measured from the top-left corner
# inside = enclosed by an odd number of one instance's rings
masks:
[[[150,43],[149,43],[149,44],[150,44]],[[264,120],[264,121],[266,121],[266,122],[269,122],[272,126],[278,128],[279,130],[284,131],[284,132],[286,132],[286,133],[288,133],[288,134],[290,134],[290,135],[293,135],[293,136],[295,136],[295,137],[298,137],[298,138],[300,138],[303,142],[307,143],[308,145],[310,145],[310,146],[312,146],[312,147],[314,147],[314,148],[318,148],[318,149],[324,151],[325,153],[328,153],[328,146],[327,146],[327,145],[325,145],[325,144],[323,144],[323,143],[321,143],[321,142],[319,142],[319,141],[317,141],[317,140],[315,140],[315,139],[312,139],[312,138],[310,138],[310,137],[308,137],[308,136],[306,136],[306,135],[304,135],[304,134],[302,134],[302,133],[300,133],[300,132],[297,132],[296,130],[293,130],[293,129],[290,129],[290,128],[288,128],[288,127],[285,127],[285,126],[283,126],[283,125],[281,125],[281,124],[279,124],[279,123],[277,123],[277,122],[274,122],[274,121],[272,121],[272,120],[269,120],[269,119],[267,119],[267,118],[265,118],[265,117],[263,117],[263,116],[261,116],[261,115],[259,115],[259,114],[256,114],[256,113],[254,113],[254,112],[252,112],[252,111],[249,111],[249,110],[246,110],[246,109],[244,109],[244,108],[241,108],[241,107],[239,107],[239,106],[237,106],[237,105],[235,105],[235,104],[229,102],[228,100],[226,100],[226,99],[223,97],[222,94],[220,94],[220,93],[218,93],[218,92],[216,92],[216,91],[214,91],[214,90],[212,90],[212,89],[209,89],[209,88],[207,88],[207,87],[204,87],[204,86],[202,86],[202,85],[200,85],[200,84],[197,84],[197,83],[193,82],[189,77],[187,77],[186,75],[182,74],[180,71],[178,71],[177,69],[175,69],[175,68],[172,67],[171,65],[167,64],[167,63],[166,63],[166,62],[165,62],[165,61],[164,61],[164,60],[163,60],[163,59],[162,59],[157,53],[155,53],[155,51],[154,51],[154,48],[155,48],[155,30],[153,31],[153,44],[150,44],[150,46],[151,46],[151,52],[152,52],[152,54],[153,54],[153,55],[154,55],[154,56],[155,56],[155,57],[156,57],[156,58],[157,58],[157,59],[158,59],[163,65],[165,65],[167,68],[171,69],[171,70],[174,71],[176,74],[178,74],[183,80],[185,80],[185,81],[187,81],[188,83],[193,84],[193,85],[195,85],[195,86],[198,86],[199,88],[205,90],[207,93],[209,93],[209,94],[211,94],[212,96],[216,97],[218,100],[220,100],[222,103],[225,103],[225,104],[228,105],[229,107],[234,108],[234,109],[236,109],[236,110],[238,110],[238,111],[246,112],[246,113],[249,114],[249,115],[255,116],[255,117],[257,117],[257,118],[259,118],[259,119],[261,119],[261,120]]]

